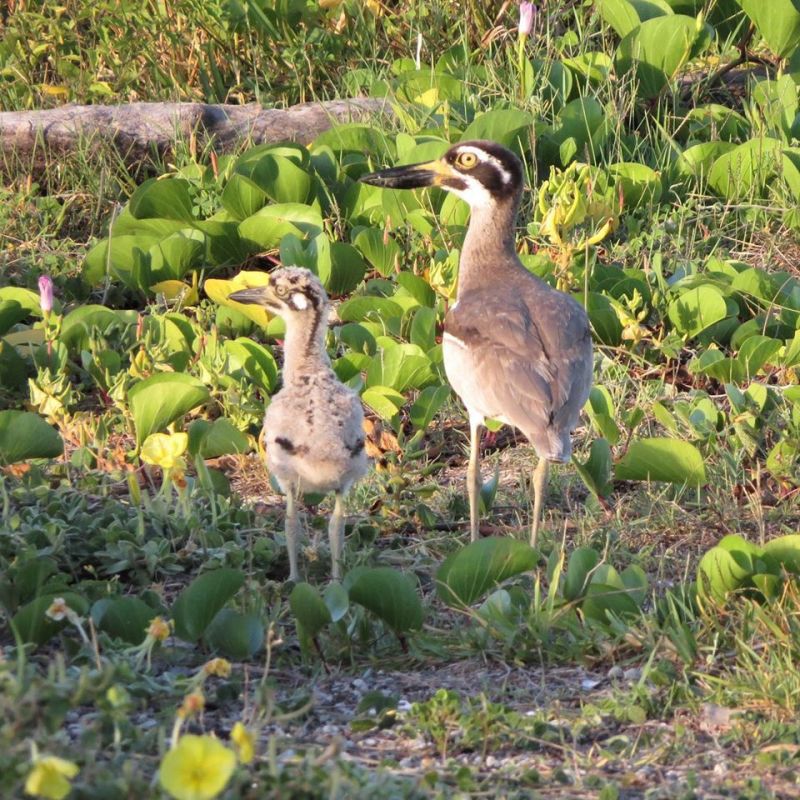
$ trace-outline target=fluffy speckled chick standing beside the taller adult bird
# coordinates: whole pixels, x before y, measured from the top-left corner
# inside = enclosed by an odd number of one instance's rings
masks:
[[[337,580],[344,536],[342,500],[367,471],[358,395],[342,384],[325,349],[328,298],[307,269],[284,267],[268,286],[232,297],[258,303],[286,322],[283,387],[264,416],[267,467],[286,494],[286,540],[290,579],[297,581],[296,501],[306,492],[336,494],[329,535],[332,575]]]

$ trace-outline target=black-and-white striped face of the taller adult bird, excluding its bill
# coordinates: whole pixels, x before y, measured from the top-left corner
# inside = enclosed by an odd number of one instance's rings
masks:
[[[522,190],[522,164],[514,153],[495,142],[463,142],[451,147],[444,160],[457,175],[442,186],[473,207],[516,198]]]

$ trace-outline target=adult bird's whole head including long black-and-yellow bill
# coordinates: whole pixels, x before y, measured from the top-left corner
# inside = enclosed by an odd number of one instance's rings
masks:
[[[522,162],[496,142],[460,142],[436,161],[409,164],[363,175],[360,180],[386,189],[440,186],[473,209],[514,204],[522,193]]]

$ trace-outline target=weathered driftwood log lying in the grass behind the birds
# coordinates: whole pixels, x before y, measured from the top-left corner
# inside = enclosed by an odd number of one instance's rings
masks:
[[[237,144],[295,141],[308,144],[340,122],[391,113],[385,101],[358,98],[302,103],[286,110],[257,104],[129,103],[67,105],[45,111],[0,112],[0,154],[6,166],[41,164],[46,153],[111,144],[128,163],[168,155],[179,139],[212,144],[218,153]]]

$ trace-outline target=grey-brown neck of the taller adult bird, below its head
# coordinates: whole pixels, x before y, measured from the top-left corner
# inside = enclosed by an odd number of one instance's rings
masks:
[[[518,206],[514,199],[472,208],[458,268],[459,296],[486,286],[487,278],[497,277],[498,270],[519,263],[514,241]]]

